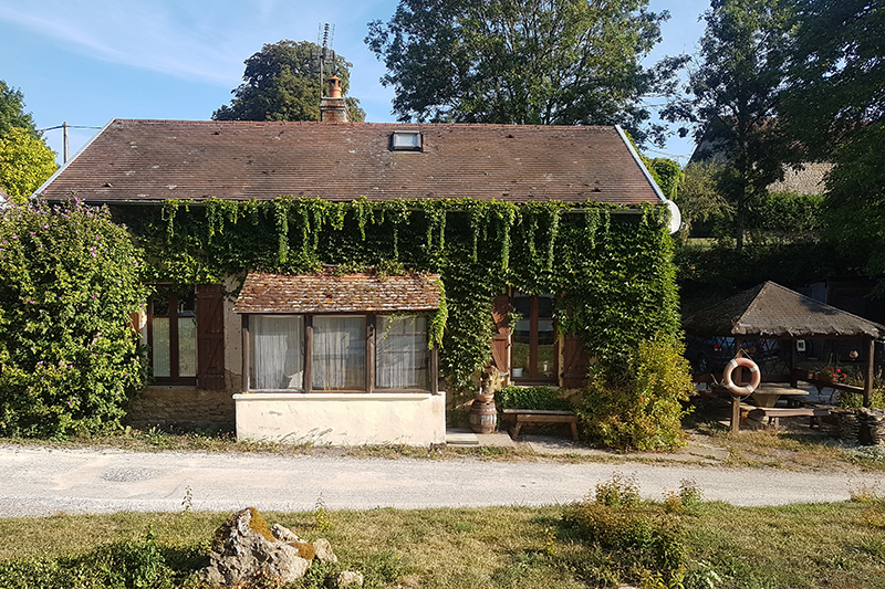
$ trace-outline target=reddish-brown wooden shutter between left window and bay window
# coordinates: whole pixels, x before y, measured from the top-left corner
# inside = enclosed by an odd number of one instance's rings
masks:
[[[220,284],[197,286],[197,387],[225,388],[225,294]]]

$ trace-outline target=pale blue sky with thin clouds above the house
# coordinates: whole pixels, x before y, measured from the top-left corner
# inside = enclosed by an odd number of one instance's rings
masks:
[[[316,41],[335,25],[333,49],[354,65],[351,95],[369,122],[394,120],[384,66],[363,43],[366,23],[389,20],[396,0],[0,0],[0,80],[24,93],[39,128],[112,118],[208,119],[230,101],[243,60],[264,43]],[[694,53],[709,0],[650,0],[668,10],[664,42],[649,56]],[[72,128],[73,156],[97,129]],[[62,132],[46,140],[61,161]],[[665,151],[685,156],[689,140]],[[685,162],[685,159],[681,159]]]

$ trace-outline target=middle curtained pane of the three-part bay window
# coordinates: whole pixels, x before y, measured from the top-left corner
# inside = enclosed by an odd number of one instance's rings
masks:
[[[312,360],[314,390],[365,390],[366,318],[314,317]]]

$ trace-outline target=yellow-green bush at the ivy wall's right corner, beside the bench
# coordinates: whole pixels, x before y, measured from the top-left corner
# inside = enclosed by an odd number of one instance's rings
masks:
[[[664,339],[643,341],[627,374],[591,371],[579,408],[584,433],[611,448],[669,450],[683,444],[681,402],[691,390],[683,346]]]

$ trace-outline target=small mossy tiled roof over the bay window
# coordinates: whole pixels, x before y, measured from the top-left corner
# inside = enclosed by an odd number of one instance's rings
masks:
[[[235,313],[361,313],[434,311],[439,307],[438,274],[336,275],[331,270],[287,276],[250,273]]]

